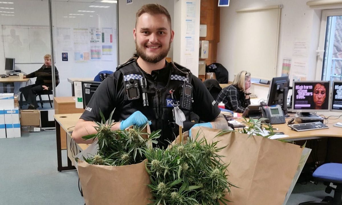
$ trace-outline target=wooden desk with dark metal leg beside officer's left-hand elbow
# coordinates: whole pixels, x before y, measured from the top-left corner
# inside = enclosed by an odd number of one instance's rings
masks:
[[[82,113],[73,113],[73,114],[55,114],[55,123],[56,123],[56,142],[57,142],[57,170],[58,172],[61,171],[66,171],[66,170],[74,170],[75,164],[74,164],[74,157],[73,154],[71,153],[71,148],[70,148],[70,142],[71,142],[71,135],[69,133],[70,130],[68,130],[69,127],[73,127],[76,125],[78,119],[80,118]],[[67,160],[68,160],[68,166],[63,167],[62,166],[62,149],[61,149],[61,128],[63,131],[66,132],[66,138],[67,138]],[[73,129],[71,129],[72,131]],[[71,143],[71,146],[76,146],[78,150],[84,150],[86,149],[89,145],[86,144],[76,144]],[[73,161],[71,161],[71,160]]]

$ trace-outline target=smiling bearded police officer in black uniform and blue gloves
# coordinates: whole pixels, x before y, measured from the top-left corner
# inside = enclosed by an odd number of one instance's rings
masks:
[[[137,11],[133,38],[139,58],[117,67],[97,88],[75,126],[77,143],[91,143],[82,136],[96,133],[93,121],[101,121],[100,109],[106,119],[115,109],[113,119],[119,123],[113,130],[150,121],[151,131],[161,129],[158,146],[167,146],[177,135],[171,128],[175,106],[183,111],[184,124],[228,129],[205,85],[188,69],[165,60],[173,37],[171,17],[163,6],[147,4]]]

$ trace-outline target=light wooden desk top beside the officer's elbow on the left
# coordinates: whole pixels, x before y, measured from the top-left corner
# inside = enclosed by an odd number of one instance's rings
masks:
[[[69,131],[74,130],[74,126],[76,125],[78,119],[81,117],[82,113],[73,113],[73,114],[55,114],[55,120],[61,125],[67,135],[71,137]],[[89,145],[87,144],[77,144],[80,150],[85,150]]]

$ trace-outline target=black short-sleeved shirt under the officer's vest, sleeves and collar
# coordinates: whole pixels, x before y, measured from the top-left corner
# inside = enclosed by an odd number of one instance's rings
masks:
[[[171,64],[166,63],[166,67],[154,70],[151,74],[146,73],[140,67],[139,69],[144,73],[148,88],[163,88],[169,80],[170,67]],[[220,114],[220,109],[215,105],[215,100],[200,79],[193,76],[192,84],[194,102],[191,106],[193,112],[200,117],[201,121],[213,121]],[[117,110],[123,106],[124,91],[122,72],[116,71],[98,86],[80,118],[86,121],[101,122],[101,109],[105,119],[108,119],[114,108]],[[118,119],[118,116],[113,116],[113,119],[116,121],[123,120]]]

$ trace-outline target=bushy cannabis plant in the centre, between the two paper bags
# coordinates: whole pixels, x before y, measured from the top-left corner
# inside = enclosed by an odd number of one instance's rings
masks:
[[[217,136],[225,134],[221,132]],[[220,162],[218,141],[208,143],[205,138],[189,139],[185,144],[175,144],[166,150],[155,148],[144,151],[148,162],[153,205],[212,204],[230,194],[227,164]]]

